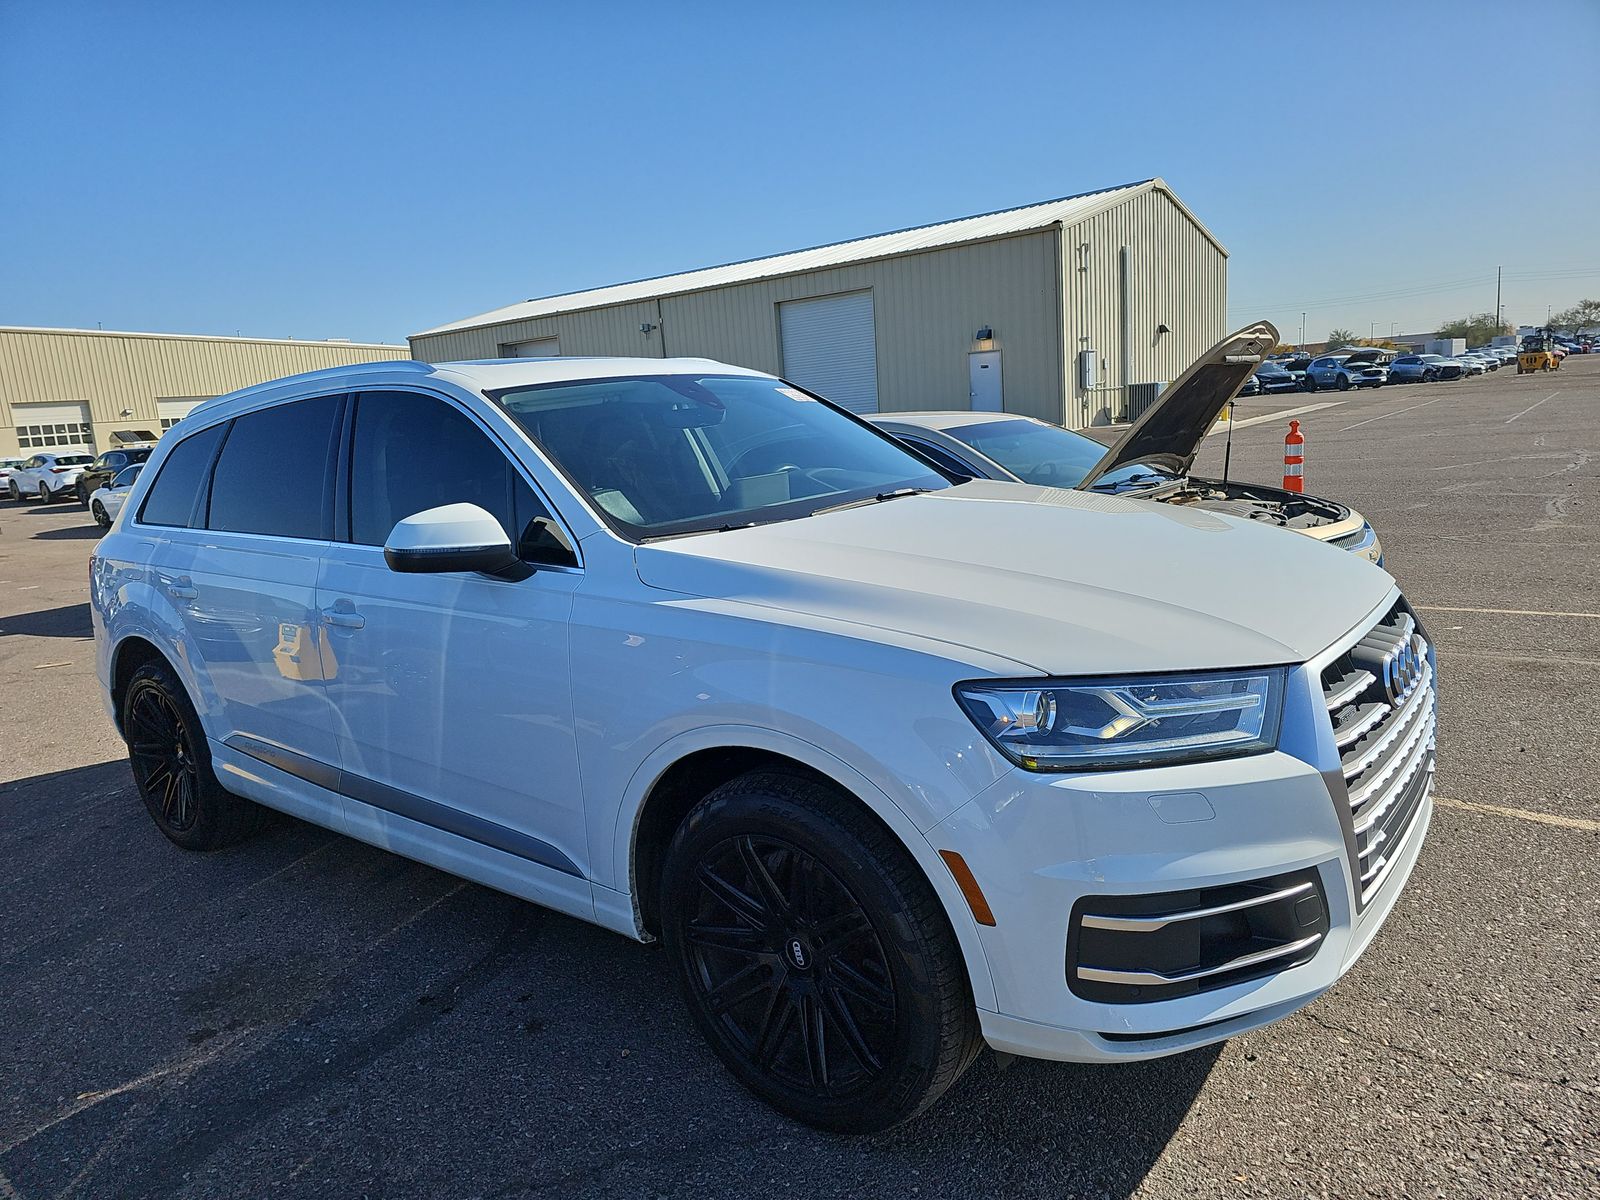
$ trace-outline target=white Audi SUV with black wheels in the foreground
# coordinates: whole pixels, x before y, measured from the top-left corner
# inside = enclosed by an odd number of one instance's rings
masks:
[[[1275,339],[1198,370],[1237,390]],[[1379,568],[955,482],[715,362],[222,397],[91,581],[173,842],[282,810],[659,941],[731,1072],[824,1128],[984,1042],[1125,1062],[1294,1011],[1432,811],[1434,653]]]

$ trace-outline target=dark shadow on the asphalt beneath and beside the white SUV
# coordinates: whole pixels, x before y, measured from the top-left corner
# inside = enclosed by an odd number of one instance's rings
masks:
[[[118,760],[0,787],[0,854],[19,1195],[1120,1198],[1219,1054],[986,1051],[920,1118],[824,1134],[733,1080],[664,954],[318,827],[181,851]]]

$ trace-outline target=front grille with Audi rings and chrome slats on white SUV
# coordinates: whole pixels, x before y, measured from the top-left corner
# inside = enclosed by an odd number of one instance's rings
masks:
[[[1365,909],[1400,859],[1434,779],[1434,662],[1403,600],[1322,672],[1322,690]]]

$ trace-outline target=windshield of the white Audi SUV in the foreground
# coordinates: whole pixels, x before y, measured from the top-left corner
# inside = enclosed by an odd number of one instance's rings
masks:
[[[582,379],[490,398],[635,539],[950,486],[888,435],[770,378]]]

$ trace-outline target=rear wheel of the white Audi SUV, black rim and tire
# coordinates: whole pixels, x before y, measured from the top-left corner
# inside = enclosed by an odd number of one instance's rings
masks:
[[[200,717],[166,662],[146,662],[133,672],[120,715],[139,798],[173,843],[221,850],[267,824],[269,810],[218,782]]]

